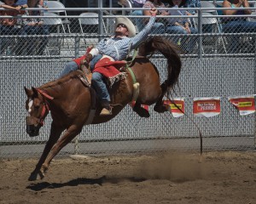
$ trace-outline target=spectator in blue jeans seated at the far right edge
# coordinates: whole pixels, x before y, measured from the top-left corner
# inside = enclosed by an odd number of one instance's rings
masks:
[[[249,3],[247,0],[224,0],[224,8],[247,8],[244,10],[224,10],[224,15],[238,15],[238,14],[252,14],[249,9]],[[247,21],[247,18],[224,18],[224,33],[239,33],[239,32],[256,32],[256,22]],[[230,40],[228,46],[229,53],[236,53],[239,50],[239,36],[232,35],[228,39]],[[254,44],[254,43],[253,43]]]

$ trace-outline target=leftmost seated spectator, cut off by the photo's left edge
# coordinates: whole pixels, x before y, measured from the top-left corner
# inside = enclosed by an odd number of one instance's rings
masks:
[[[4,0],[3,4],[0,5],[1,8],[5,8],[0,10],[0,15],[11,15],[11,16],[18,16],[20,14],[24,14],[24,11],[20,10],[21,6],[16,6],[15,3],[17,0]],[[25,35],[26,33],[20,29],[20,25],[17,23],[17,19],[12,18],[5,18],[0,19],[0,35]],[[14,38],[11,38],[14,40]],[[9,46],[9,41],[1,42],[1,53],[3,49]],[[22,38],[18,38],[17,46],[11,50],[11,53],[20,55],[22,53],[22,46],[23,46]],[[15,49],[15,50],[14,50]]]

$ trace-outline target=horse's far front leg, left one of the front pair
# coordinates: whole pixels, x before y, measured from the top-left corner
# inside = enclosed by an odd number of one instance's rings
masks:
[[[55,126],[54,122],[51,123],[49,139],[45,144],[44,152],[40,157],[38,164],[36,165],[36,168],[34,169],[34,171],[32,171],[30,177],[28,178],[28,180],[32,181],[32,180],[37,180],[39,178],[41,179],[44,178],[44,172],[42,172],[40,169],[46,157],[48,156],[49,151],[52,149],[56,141],[60,138],[63,130],[64,130],[63,128]]]

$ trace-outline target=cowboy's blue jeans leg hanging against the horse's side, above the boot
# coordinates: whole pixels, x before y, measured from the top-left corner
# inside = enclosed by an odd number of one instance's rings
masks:
[[[110,95],[108,94],[108,88],[104,82],[104,76],[99,72],[93,72],[91,77],[91,85],[96,90],[96,94],[99,96],[102,106],[109,105]]]

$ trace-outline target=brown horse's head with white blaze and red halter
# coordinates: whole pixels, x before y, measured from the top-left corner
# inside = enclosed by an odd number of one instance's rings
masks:
[[[49,113],[49,105],[40,89],[24,89],[27,95],[26,111],[29,114],[26,116],[26,133],[31,137],[38,136],[40,127],[44,125],[44,118]]]

